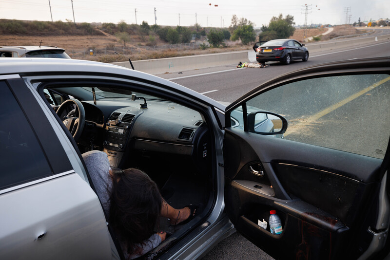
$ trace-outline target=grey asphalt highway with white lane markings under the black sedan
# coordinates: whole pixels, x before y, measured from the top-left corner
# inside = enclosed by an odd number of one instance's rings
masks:
[[[378,31],[378,33],[383,34],[383,31]],[[163,74],[159,76],[171,79],[172,81],[199,93],[204,93],[206,96],[217,101],[233,102],[245,93],[259,86],[261,83],[281,74],[320,63],[380,56],[390,56],[390,41],[328,52],[317,52],[311,54],[307,62],[296,61],[292,62],[289,66],[280,63],[270,63],[271,66],[264,69],[236,69],[236,64],[232,64],[230,66],[205,68],[196,71],[182,72],[180,74]],[[245,62],[245,60],[242,62]],[[389,95],[389,93],[385,94]],[[354,103],[351,102],[350,105],[351,107],[345,107],[343,109],[353,111]],[[375,115],[375,111],[366,112]],[[334,114],[330,113],[328,116],[334,116]],[[354,124],[358,124],[358,122]],[[370,142],[368,141],[367,143],[369,144]],[[265,254],[241,235],[235,233],[224,241],[221,241],[202,260],[211,259],[272,260],[273,258]]]

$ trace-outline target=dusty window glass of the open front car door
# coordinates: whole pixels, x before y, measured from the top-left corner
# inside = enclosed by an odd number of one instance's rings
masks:
[[[305,79],[261,93],[247,106],[284,116],[284,139],[380,159],[389,142],[388,74]]]

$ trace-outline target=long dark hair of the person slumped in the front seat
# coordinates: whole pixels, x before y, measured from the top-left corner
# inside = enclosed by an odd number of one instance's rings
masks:
[[[162,198],[156,183],[143,171],[129,168],[114,172],[110,223],[127,251],[139,254],[144,241],[154,233]]]

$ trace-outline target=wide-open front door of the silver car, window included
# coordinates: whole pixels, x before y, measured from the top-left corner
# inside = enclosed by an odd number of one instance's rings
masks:
[[[273,135],[258,130],[264,111],[287,119],[287,130],[284,120]],[[389,58],[285,74],[231,104],[225,122],[226,212],[245,238],[275,259],[389,253]]]

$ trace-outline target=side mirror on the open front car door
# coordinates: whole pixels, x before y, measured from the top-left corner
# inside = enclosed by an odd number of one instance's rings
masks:
[[[264,135],[282,134],[287,130],[287,120],[279,114],[255,111],[248,115],[248,131]]]

